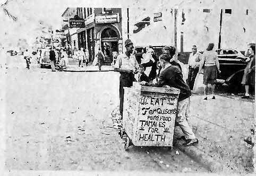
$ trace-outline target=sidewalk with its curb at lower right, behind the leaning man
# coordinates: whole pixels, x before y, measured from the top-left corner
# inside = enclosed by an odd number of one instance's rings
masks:
[[[183,147],[184,153],[212,172],[252,173],[253,151],[243,142],[250,135],[254,120],[254,103],[216,96],[216,100],[203,100],[203,96],[191,97],[191,120],[199,144]],[[181,136],[179,128],[177,136]]]

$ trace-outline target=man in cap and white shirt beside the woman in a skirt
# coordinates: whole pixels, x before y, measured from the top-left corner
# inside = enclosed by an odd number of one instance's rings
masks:
[[[197,77],[199,71],[200,60],[202,59],[202,55],[197,50],[197,46],[192,46],[192,52],[189,55],[189,73],[187,74],[186,83],[189,85],[190,90],[193,90],[195,77]]]

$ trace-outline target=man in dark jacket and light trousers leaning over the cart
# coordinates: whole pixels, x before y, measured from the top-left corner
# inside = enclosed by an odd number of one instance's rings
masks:
[[[190,119],[190,96],[191,90],[189,86],[183,81],[182,71],[178,66],[170,64],[170,59],[174,55],[162,54],[159,57],[160,65],[162,67],[158,81],[148,83],[146,85],[156,87],[175,87],[180,89],[180,95],[177,102],[177,116],[176,123],[181,127],[185,139],[184,146],[191,146],[198,143],[198,139],[195,137],[192,128],[189,125]],[[156,82],[156,83],[155,83]]]

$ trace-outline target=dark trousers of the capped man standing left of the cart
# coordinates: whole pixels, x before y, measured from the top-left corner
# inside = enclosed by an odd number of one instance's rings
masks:
[[[124,106],[124,87],[131,87],[134,81],[133,73],[121,73],[120,86],[119,86],[119,98],[120,98],[120,115],[123,119],[123,106]]]

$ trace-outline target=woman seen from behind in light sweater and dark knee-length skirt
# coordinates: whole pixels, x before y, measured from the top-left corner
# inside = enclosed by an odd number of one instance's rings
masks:
[[[203,71],[203,84],[204,84],[204,100],[207,100],[207,88],[208,84],[211,84],[212,99],[215,99],[215,84],[217,74],[220,73],[218,54],[214,50],[214,43],[209,43],[206,51],[203,52],[202,61],[199,67],[199,73],[201,69]],[[218,72],[218,73],[217,73]]]

